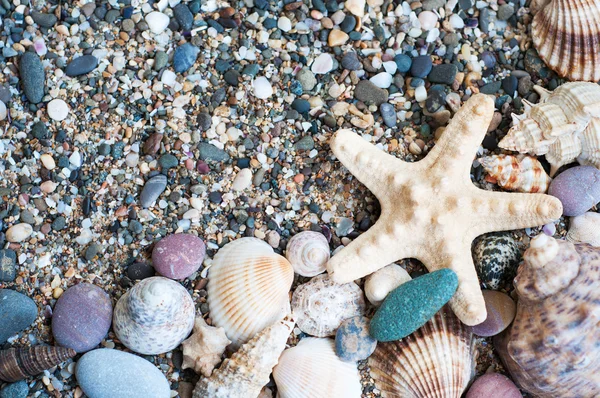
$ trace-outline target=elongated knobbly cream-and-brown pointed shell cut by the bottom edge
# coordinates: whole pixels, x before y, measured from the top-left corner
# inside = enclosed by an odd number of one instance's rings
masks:
[[[280,320],[244,344],[211,377],[201,379],[193,398],[257,397],[285,349],[294,323]]]

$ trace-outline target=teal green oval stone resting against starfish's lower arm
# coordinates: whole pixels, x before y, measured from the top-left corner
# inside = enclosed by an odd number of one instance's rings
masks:
[[[388,294],[371,320],[371,336],[377,341],[408,336],[433,318],[457,287],[458,277],[447,268],[400,285]]]

